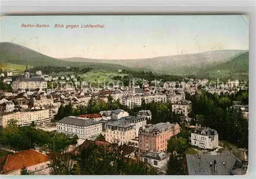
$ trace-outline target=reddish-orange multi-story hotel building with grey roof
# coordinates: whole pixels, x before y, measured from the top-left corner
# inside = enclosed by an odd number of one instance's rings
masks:
[[[139,152],[166,151],[169,138],[180,132],[178,123],[147,124],[139,129]]]

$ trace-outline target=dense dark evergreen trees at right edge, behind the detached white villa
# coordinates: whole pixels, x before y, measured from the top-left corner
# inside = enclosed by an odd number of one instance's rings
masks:
[[[203,116],[202,124],[218,131],[219,140],[225,140],[239,147],[248,148],[248,120],[241,110],[233,109],[233,100],[248,105],[248,89],[236,94],[211,94],[201,90],[201,94],[189,95],[191,100],[191,117]]]

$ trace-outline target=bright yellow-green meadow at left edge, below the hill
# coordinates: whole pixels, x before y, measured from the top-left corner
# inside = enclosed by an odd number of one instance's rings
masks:
[[[33,66],[28,65],[28,68],[33,68]],[[13,75],[23,74],[26,69],[26,65],[18,65],[12,63],[0,63],[0,69],[5,71],[11,71]]]

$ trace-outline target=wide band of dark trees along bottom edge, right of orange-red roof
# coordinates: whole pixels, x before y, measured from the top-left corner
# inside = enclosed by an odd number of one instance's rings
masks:
[[[133,148],[89,144],[76,153],[53,154],[50,173],[52,175],[156,175],[150,164],[133,158]]]

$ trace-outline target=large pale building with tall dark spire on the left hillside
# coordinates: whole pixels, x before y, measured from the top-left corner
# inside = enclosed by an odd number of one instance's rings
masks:
[[[27,65],[24,76],[17,78],[12,87],[13,89],[45,89],[47,88],[47,82],[43,78],[31,78]]]

